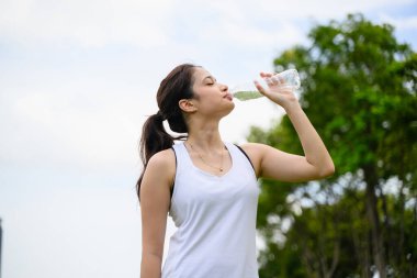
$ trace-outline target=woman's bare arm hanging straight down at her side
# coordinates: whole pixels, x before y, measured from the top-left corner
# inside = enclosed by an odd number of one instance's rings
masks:
[[[174,177],[174,154],[171,149],[154,155],[140,186],[142,278],[160,278],[170,187]]]

